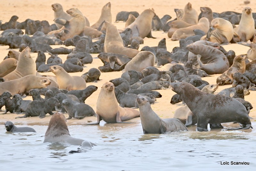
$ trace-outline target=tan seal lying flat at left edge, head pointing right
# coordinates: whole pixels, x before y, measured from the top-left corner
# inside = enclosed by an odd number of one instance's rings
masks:
[[[35,75],[27,75],[19,79],[0,83],[0,94],[9,91],[12,95],[23,95],[33,88],[46,88],[46,86],[50,84],[51,81],[48,78]]]

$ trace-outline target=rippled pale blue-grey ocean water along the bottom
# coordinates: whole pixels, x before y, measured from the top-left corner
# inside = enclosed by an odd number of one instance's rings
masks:
[[[102,122],[102,121],[101,121]],[[231,123],[230,123],[231,124]],[[18,127],[26,125],[16,125]],[[232,124],[231,124],[232,126]],[[143,134],[141,123],[71,125],[70,135],[93,143],[92,150],[70,154],[76,145],[43,143],[47,126],[36,133],[0,129],[1,170],[244,170],[256,168],[256,130],[211,130]],[[252,122],[252,127],[256,123]],[[226,163],[229,162],[229,165]],[[249,162],[234,165],[231,162]],[[226,163],[226,165],[224,165]]]

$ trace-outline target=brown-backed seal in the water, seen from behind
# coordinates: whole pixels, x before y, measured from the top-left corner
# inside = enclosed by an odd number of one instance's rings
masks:
[[[63,113],[55,112],[49,122],[48,128],[44,135],[44,143],[56,143],[56,142],[64,142],[71,145],[81,145],[85,141],[84,139],[73,138],[70,136],[68,131],[67,120]],[[89,142],[91,147],[96,145],[94,143]]]

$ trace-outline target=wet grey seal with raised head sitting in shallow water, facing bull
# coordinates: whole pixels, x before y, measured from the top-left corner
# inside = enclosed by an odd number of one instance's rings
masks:
[[[178,119],[161,119],[151,108],[149,101],[144,97],[137,97],[140,109],[140,120],[144,134],[163,134],[180,130],[188,130]]]

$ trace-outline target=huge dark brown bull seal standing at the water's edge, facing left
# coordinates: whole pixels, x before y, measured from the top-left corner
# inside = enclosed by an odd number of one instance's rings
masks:
[[[242,127],[229,130],[251,128],[247,110],[239,101],[219,94],[204,93],[186,82],[170,83],[172,91],[180,94],[188,108],[197,116],[197,130],[208,131],[208,123],[237,122]]]

